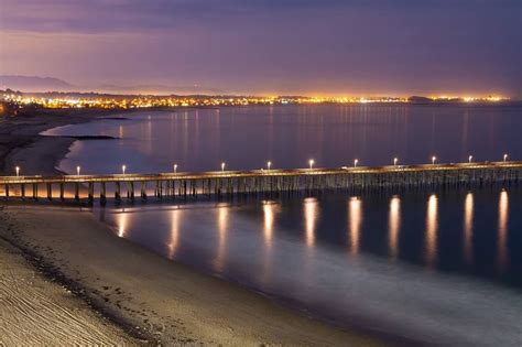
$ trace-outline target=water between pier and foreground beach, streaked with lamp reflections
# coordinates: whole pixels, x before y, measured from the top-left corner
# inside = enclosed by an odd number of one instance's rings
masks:
[[[520,214],[515,219],[510,214],[510,196],[519,202],[513,206],[520,213],[522,197],[516,189],[511,194],[334,194],[172,207],[149,204],[100,213],[115,224],[120,237],[289,299],[338,324],[372,319],[382,330],[393,326],[411,337],[426,337],[429,330],[429,336],[461,343],[458,338],[480,336],[480,330],[497,324],[490,318],[501,322],[499,315],[505,310],[511,310],[514,319],[522,319],[522,307],[513,305],[513,292],[503,290],[504,284],[522,288],[520,257],[508,252],[510,247],[522,249],[520,238],[518,242],[510,238],[515,232],[510,230],[513,220],[520,225]],[[498,202],[493,208],[489,205],[492,197]],[[151,223],[155,228],[146,227]],[[347,246],[351,257],[346,257]],[[487,267],[480,261],[498,267],[483,272]],[[489,306],[480,307],[486,303]],[[503,312],[491,308],[497,305],[505,305]],[[454,317],[437,317],[448,310],[453,315],[455,310],[470,314],[475,321],[457,333]],[[483,315],[483,310],[491,316]],[[433,325],[433,319],[438,323]],[[417,326],[421,322],[424,324]],[[496,329],[509,336],[508,327],[513,329],[511,323]],[[496,343],[503,338],[492,336]]]

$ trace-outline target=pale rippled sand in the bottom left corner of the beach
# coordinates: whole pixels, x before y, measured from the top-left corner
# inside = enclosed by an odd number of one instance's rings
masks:
[[[2,234],[10,228],[2,218]],[[137,345],[84,300],[33,269],[26,254],[0,239],[0,345]]]

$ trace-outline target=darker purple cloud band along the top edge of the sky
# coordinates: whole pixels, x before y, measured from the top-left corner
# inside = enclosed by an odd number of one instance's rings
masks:
[[[151,32],[241,23],[248,18],[282,20],[308,11],[474,10],[520,11],[519,0],[2,0],[0,30],[33,32]],[[384,13],[383,13],[384,14]]]

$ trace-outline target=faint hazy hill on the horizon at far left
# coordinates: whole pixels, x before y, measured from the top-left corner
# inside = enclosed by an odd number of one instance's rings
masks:
[[[0,76],[0,89],[22,91],[70,91],[75,86],[53,77]]]

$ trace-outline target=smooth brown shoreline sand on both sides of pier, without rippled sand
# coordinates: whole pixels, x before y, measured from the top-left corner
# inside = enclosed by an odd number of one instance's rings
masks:
[[[3,173],[20,163],[28,174],[56,173],[55,165],[75,141],[37,135],[46,129],[107,116],[63,116],[18,124],[0,122],[0,135],[12,138],[0,152]],[[224,345],[383,345],[374,337],[341,330],[239,285],[202,274],[120,239],[89,209],[9,205],[1,229],[44,272],[59,274],[66,285],[93,302],[128,333],[163,344]],[[56,221],[59,220],[59,224]],[[2,247],[0,246],[0,249]],[[45,271],[45,269],[47,271]]]

